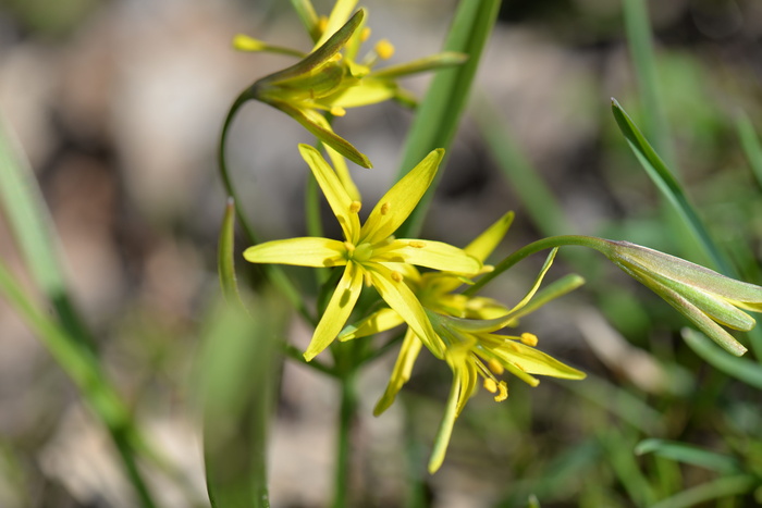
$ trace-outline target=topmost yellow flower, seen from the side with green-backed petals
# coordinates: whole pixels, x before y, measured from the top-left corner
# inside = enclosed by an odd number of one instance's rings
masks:
[[[311,3],[303,2],[314,13]],[[323,115],[330,112],[343,116],[347,108],[374,104],[389,99],[415,103],[410,95],[396,83],[398,77],[463,63],[466,55],[443,52],[401,65],[374,70],[379,60],[394,53],[385,39],[361,60],[356,55],[369,28],[364,27],[365,11],[349,16],[357,0],[339,0],[331,16],[318,18],[311,14],[309,32],[316,39],[308,54],[288,48],[267,45],[244,35],[237,35],[234,46],[244,51],[271,51],[296,55],[302,60],[294,65],[257,80],[244,90],[237,102],[256,99],[270,104],[299,122],[307,131],[364,168],[370,161],[346,139],[336,135]]]

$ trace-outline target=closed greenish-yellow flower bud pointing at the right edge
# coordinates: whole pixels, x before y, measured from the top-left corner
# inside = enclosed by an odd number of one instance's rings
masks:
[[[745,332],[753,329],[754,319],[739,308],[762,312],[762,287],[629,241],[594,240],[591,247],[661,296],[727,351],[736,356],[746,352],[746,347],[717,323]]]

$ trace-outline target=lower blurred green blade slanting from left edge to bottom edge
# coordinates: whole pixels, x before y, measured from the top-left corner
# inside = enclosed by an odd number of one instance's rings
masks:
[[[76,342],[67,330],[47,313],[37,309],[2,262],[0,262],[0,294],[25,320],[57,363],[74,382],[95,416],[109,431],[140,506],[145,508],[156,506],[137,468],[135,449],[145,447],[146,444],[139,438],[126,406],[101,371],[91,350]]]

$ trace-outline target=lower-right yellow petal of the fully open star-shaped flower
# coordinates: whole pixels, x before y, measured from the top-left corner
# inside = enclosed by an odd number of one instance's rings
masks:
[[[435,357],[442,358],[443,345],[434,334],[423,307],[407,284],[394,281],[392,271],[381,264],[368,263],[366,268],[381,298],[405,320]]]

